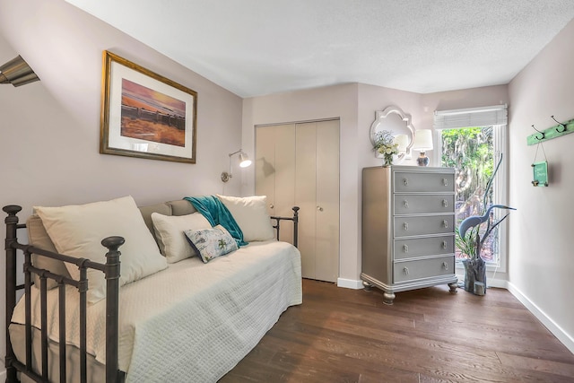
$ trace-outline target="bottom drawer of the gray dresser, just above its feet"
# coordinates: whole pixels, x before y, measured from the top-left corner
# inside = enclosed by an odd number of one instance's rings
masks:
[[[393,265],[393,283],[431,278],[455,273],[455,256],[396,262]]]

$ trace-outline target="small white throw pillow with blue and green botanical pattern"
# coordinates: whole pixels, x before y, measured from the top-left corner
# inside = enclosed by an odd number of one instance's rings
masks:
[[[237,241],[222,225],[217,225],[213,229],[188,230],[185,233],[190,245],[196,248],[204,264],[215,257],[224,256],[238,249]]]

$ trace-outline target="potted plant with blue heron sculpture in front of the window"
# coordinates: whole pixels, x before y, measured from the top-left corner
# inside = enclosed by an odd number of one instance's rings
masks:
[[[496,176],[499,170],[500,162],[502,162],[501,154],[496,169],[486,184],[483,201],[484,207],[486,207],[488,191],[492,186],[494,176]],[[457,248],[459,248],[465,256],[465,259],[462,261],[465,266],[465,291],[473,292],[477,295],[484,295],[486,293],[486,264],[483,257],[481,257],[483,245],[492,231],[500,225],[500,222],[509,216],[509,213],[507,213],[498,222],[495,222],[494,214],[491,213],[493,209],[516,210],[514,207],[506,205],[491,205],[482,215],[472,215],[465,218],[456,229]]]

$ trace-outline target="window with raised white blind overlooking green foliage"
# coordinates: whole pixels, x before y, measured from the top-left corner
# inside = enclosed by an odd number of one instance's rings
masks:
[[[456,220],[457,225],[466,217],[481,215],[486,207],[494,204],[506,205],[506,106],[477,109],[458,109],[435,112],[437,134],[437,156],[440,166],[455,168]],[[502,156],[500,169],[484,196],[488,180]],[[492,219],[498,221],[508,213],[505,210],[491,211]],[[483,248],[487,265],[501,267],[506,271],[506,222],[491,233]],[[461,258],[457,249],[457,257]]]

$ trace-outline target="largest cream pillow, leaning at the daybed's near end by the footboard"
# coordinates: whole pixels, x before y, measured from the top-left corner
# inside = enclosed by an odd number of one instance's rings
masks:
[[[124,237],[126,243],[119,248],[120,284],[137,281],[167,267],[132,196],[86,205],[34,206],[34,209],[58,253],[70,257],[106,263],[108,250],[101,245],[101,239],[115,235]],[[65,266],[72,278],[80,277],[76,265],[66,263]],[[88,281],[88,301],[95,303],[104,299],[104,274],[88,269]]]

